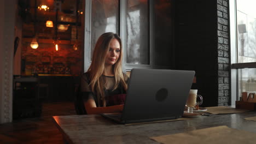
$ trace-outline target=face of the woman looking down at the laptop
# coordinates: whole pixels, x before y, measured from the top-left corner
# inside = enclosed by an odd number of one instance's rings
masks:
[[[105,65],[114,65],[120,56],[120,44],[117,39],[110,40],[109,51],[107,52]]]

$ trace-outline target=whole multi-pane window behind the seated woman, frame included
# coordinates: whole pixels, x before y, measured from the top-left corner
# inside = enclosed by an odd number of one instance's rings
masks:
[[[173,68],[173,7],[173,0],[85,0],[84,71],[104,32],[120,35],[124,72]]]

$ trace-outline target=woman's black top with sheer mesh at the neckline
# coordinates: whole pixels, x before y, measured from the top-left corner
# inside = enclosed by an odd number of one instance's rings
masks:
[[[90,87],[90,73],[86,72],[82,75],[81,77],[81,84],[80,84],[80,91],[83,93],[83,98],[85,101],[87,101],[88,99],[94,99],[95,103],[97,106],[102,106],[102,101],[99,101],[97,99],[97,94],[95,92],[92,92],[91,87]],[[125,82],[127,83],[129,77],[124,74],[124,79]],[[126,91],[124,90],[124,88],[119,85],[116,89],[114,88],[115,85],[115,77],[114,76],[105,76],[102,75],[100,77],[100,80],[103,81],[103,83],[105,83],[104,85],[104,94],[105,94],[105,100],[106,100],[106,106],[112,106],[115,105],[113,103],[111,103],[109,101],[110,97],[118,97],[116,95],[118,94],[126,94]]]

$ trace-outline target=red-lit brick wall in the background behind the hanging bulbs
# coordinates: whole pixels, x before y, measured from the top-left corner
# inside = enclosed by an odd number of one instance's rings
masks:
[[[67,31],[57,31],[55,28],[45,27],[44,22],[37,25],[37,41],[39,47],[30,47],[34,37],[34,23],[22,23],[22,65],[21,73],[37,74],[73,74],[83,73],[84,50],[82,41],[84,29],[81,26],[69,26]],[[54,40],[57,37],[59,51],[55,50]],[[73,45],[78,42],[78,50]]]

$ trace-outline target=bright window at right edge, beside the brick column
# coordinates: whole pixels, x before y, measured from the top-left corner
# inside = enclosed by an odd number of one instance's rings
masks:
[[[255,4],[256,1],[249,0],[230,1],[231,97],[234,100],[242,92],[256,91]]]

